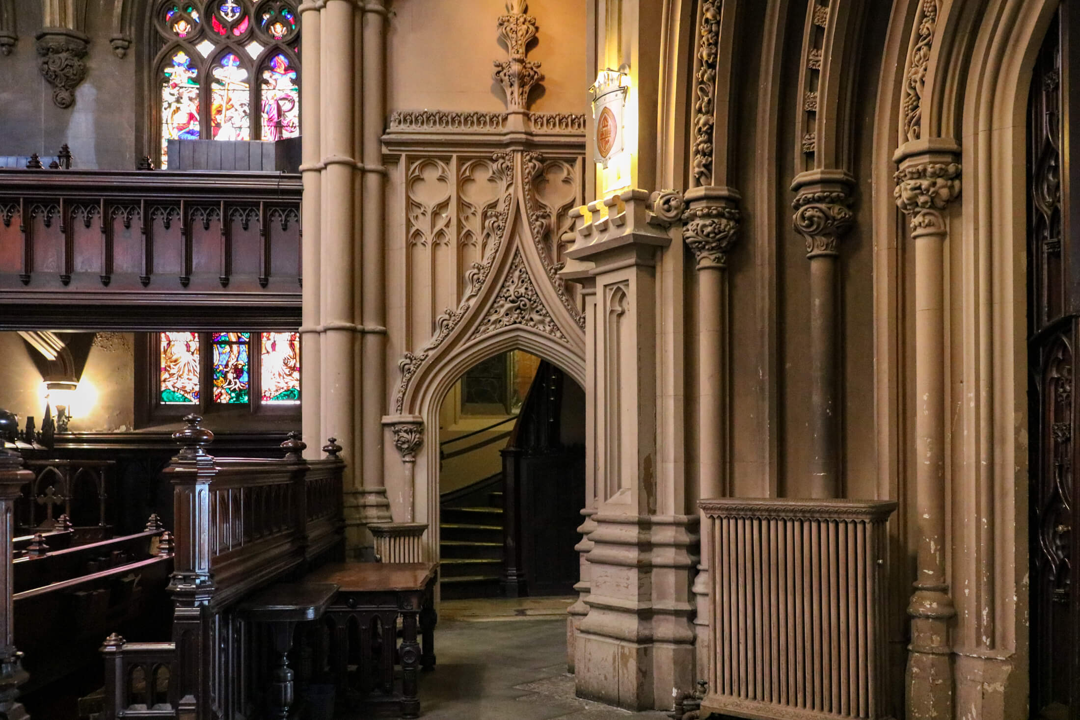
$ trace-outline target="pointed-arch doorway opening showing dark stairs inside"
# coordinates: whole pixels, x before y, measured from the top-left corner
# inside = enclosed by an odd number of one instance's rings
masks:
[[[468,369],[438,415],[444,599],[570,595],[585,502],[585,393],[513,350]]]

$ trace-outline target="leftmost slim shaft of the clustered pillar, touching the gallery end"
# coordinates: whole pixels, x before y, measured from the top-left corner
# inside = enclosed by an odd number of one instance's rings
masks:
[[[320,397],[322,395],[322,359],[320,321],[320,245],[322,234],[322,165],[321,140],[321,18],[320,3],[306,0],[300,4],[300,23],[303,27],[303,64],[300,68],[303,94],[300,97],[301,153],[300,173],[303,177],[303,200],[300,205],[302,221],[301,262],[303,274],[303,316],[300,325],[300,356],[303,364],[303,388],[300,410],[303,441],[308,458],[319,458],[322,434]]]

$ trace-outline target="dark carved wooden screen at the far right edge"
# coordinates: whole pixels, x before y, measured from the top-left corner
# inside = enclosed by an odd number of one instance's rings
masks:
[[[1077,13],[1074,13],[1077,14]],[[1072,562],[1077,499],[1077,406],[1072,393],[1080,339],[1080,228],[1068,221],[1068,53],[1070,22],[1059,12],[1039,52],[1028,107],[1028,367],[1030,378],[1031,717],[1080,717],[1074,689],[1077,588]],[[1064,100],[1064,101],[1063,101]],[[1074,140],[1075,142],[1075,140]]]

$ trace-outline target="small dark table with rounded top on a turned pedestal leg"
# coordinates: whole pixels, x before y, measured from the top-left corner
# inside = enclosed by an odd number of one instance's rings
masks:
[[[338,586],[333,583],[279,583],[244,601],[240,611],[253,623],[270,627],[276,665],[271,675],[270,717],[285,720],[293,705],[293,669],[288,652],[293,649],[293,630],[297,623],[319,620],[326,612]]]

